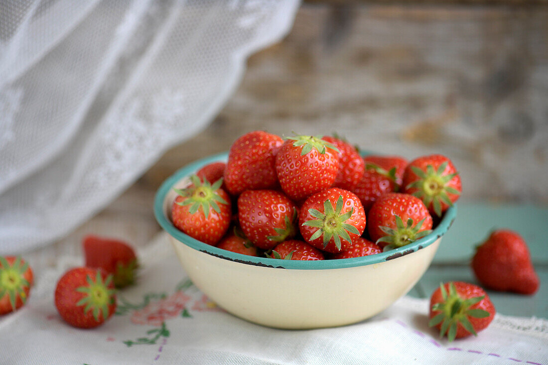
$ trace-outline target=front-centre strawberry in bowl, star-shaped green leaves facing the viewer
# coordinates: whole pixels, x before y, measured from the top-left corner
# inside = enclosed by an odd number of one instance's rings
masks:
[[[333,187],[306,199],[300,209],[299,226],[306,242],[337,253],[349,249],[362,235],[366,213],[355,194]]]

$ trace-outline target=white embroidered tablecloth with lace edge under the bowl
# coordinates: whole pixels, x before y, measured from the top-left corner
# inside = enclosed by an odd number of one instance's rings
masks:
[[[408,296],[351,326],[279,330],[215,306],[179,265],[164,233],[139,251],[138,284],[95,329],[62,321],[56,281],[82,258],[37,277],[21,310],[0,318],[1,364],[547,364],[548,321],[497,314],[477,338],[448,343],[427,327],[427,300]]]

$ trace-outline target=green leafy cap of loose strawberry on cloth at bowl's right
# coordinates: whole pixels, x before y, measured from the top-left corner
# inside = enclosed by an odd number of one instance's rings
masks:
[[[441,323],[439,337],[447,333],[447,339],[453,341],[456,337],[458,325],[464,327],[468,332],[477,336],[476,330],[470,323],[469,317],[486,318],[489,312],[483,309],[471,309],[471,307],[485,298],[485,295],[475,296],[473,298],[463,299],[456,292],[455,284],[449,283],[449,293],[443,283],[439,284],[443,301],[432,306],[432,311],[440,311],[428,322],[429,327],[437,326]]]

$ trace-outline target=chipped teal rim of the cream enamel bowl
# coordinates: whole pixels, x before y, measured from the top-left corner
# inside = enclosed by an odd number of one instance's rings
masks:
[[[370,152],[363,152],[363,156],[370,155]],[[243,255],[231,251],[227,251],[215,246],[211,246],[207,243],[198,241],[195,238],[186,235],[185,233],[179,231],[173,223],[165,215],[163,206],[165,197],[168,195],[172,187],[178,183],[181,179],[185,178],[187,175],[196,173],[198,169],[202,168],[208,163],[226,161],[228,156],[227,152],[218,153],[216,155],[208,156],[205,158],[198,159],[195,162],[188,164],[187,166],[177,170],[172,176],[166,179],[163,184],[160,186],[156,192],[154,199],[154,215],[158,224],[164,229],[170,236],[175,238],[177,241],[182,244],[186,244],[193,249],[196,249],[200,252],[207,253],[213,256],[216,256],[221,259],[234,261],[236,263],[246,264],[246,265],[255,265],[255,266],[265,266],[273,267],[277,269],[293,269],[293,270],[327,270],[327,269],[344,269],[345,267],[356,267],[356,266],[365,266],[372,264],[380,264],[385,261],[392,259],[397,259],[401,256],[411,254],[430,246],[438,238],[442,237],[449,227],[453,224],[456,216],[456,204],[453,207],[447,209],[443,214],[443,217],[439,224],[433,229],[430,235],[427,235],[413,243],[409,243],[406,246],[392,249],[387,252],[380,254],[362,256],[357,258],[350,259],[336,259],[336,260],[317,260],[317,261],[301,261],[301,260],[282,260],[282,259],[271,259],[271,258],[261,258],[249,255]]]

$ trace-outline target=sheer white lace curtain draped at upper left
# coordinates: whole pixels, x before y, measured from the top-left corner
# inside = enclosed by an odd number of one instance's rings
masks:
[[[297,7],[0,1],[0,254],[66,234],[204,128]]]

